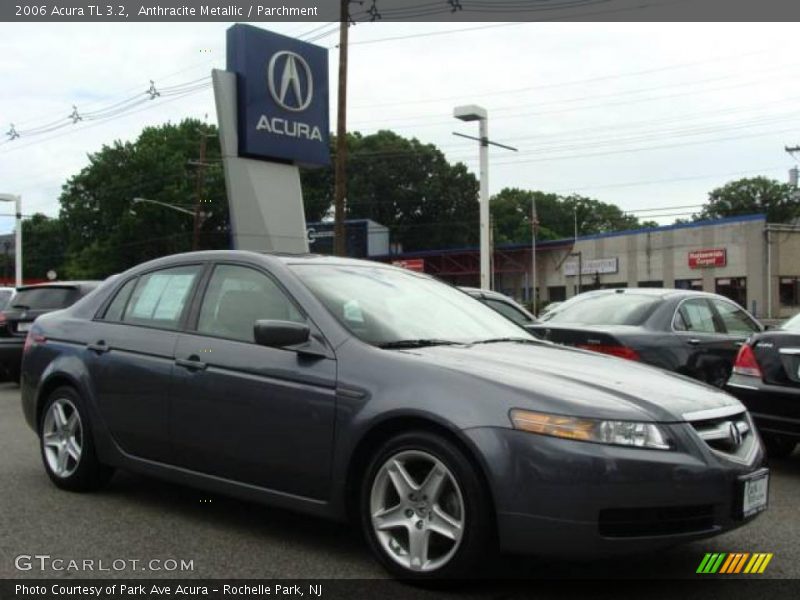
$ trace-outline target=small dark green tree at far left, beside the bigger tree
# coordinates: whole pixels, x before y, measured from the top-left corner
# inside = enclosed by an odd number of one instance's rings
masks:
[[[22,222],[22,273],[26,279],[44,279],[55,271],[64,278],[67,231],[60,219],[41,213]]]

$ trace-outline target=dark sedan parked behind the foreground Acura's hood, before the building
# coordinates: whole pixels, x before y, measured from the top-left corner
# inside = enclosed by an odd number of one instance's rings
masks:
[[[641,361],[716,387],[761,324],[723,296],[630,288],[576,296],[531,328],[543,339]]]

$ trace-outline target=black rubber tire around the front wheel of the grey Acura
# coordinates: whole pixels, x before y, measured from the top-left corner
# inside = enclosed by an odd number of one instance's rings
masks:
[[[400,564],[398,562],[399,559],[393,558],[384,548],[372,523],[370,502],[373,486],[378,485],[376,478],[382,467],[392,457],[415,452],[434,457],[449,470],[448,476],[451,476],[452,479],[448,479],[448,481],[455,482],[455,486],[452,483],[446,483],[443,484],[445,486],[443,489],[447,492],[446,486],[450,486],[450,499],[456,495],[454,490],[458,489],[460,495],[456,502],[461,501],[461,506],[463,507],[463,510],[459,509],[457,511],[462,513],[461,518],[463,519],[460,541],[454,546],[455,551],[447,562],[433,570],[416,570]],[[424,474],[420,476],[420,479],[424,479]],[[422,496],[422,498],[427,501],[427,497]],[[444,498],[444,493],[442,498],[445,501],[447,500],[447,498]],[[403,500],[400,500],[400,502],[402,503]],[[428,505],[426,504],[426,506]],[[410,516],[410,521],[416,525],[423,523],[423,528],[426,530],[429,526],[432,527],[435,507],[441,510],[442,505],[438,501],[431,501],[429,506],[428,517],[418,517],[415,514]],[[401,579],[423,582],[465,576],[474,577],[483,573],[486,570],[484,567],[492,565],[496,556],[495,515],[489,491],[486,489],[477,467],[467,458],[464,452],[447,438],[435,433],[427,431],[402,433],[389,439],[374,453],[361,481],[358,511],[361,529],[370,549],[387,571]],[[406,510],[405,514],[408,515],[408,513],[409,510]],[[430,525],[425,520],[426,518],[431,519]],[[420,520],[417,521],[417,519]],[[407,529],[401,527],[400,531],[408,531],[406,535],[410,536],[413,533],[412,529],[413,526],[409,525]],[[417,527],[417,529],[420,529],[420,527]],[[428,539],[434,538],[433,542],[443,541],[445,544],[454,543],[445,538],[436,539],[438,535],[437,532],[432,530],[432,533],[428,533]],[[426,542],[426,544],[430,547],[433,542]],[[410,541],[407,543],[406,550],[408,550],[409,546]],[[410,552],[407,552],[407,554],[410,558]]]

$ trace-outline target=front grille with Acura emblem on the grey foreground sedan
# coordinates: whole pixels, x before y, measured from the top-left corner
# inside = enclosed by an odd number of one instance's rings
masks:
[[[684,417],[698,437],[717,455],[750,464],[758,448],[750,416],[738,407],[724,410],[720,416],[713,415],[713,412],[694,413]],[[725,412],[728,414],[724,414]]]

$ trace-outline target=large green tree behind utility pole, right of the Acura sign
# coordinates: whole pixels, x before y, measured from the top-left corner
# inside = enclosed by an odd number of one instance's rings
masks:
[[[348,134],[347,147],[348,219],[389,227],[405,250],[477,243],[478,182],[464,164],[391,131]],[[332,169],[302,177],[306,219],[319,220],[333,205]]]

